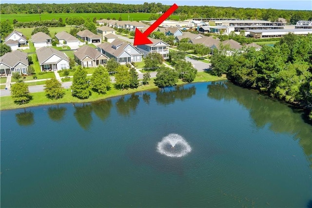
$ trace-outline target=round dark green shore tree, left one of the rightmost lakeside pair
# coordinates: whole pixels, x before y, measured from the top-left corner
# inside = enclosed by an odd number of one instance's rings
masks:
[[[178,79],[178,73],[176,70],[160,66],[157,70],[155,85],[158,87],[173,86],[176,85]]]

